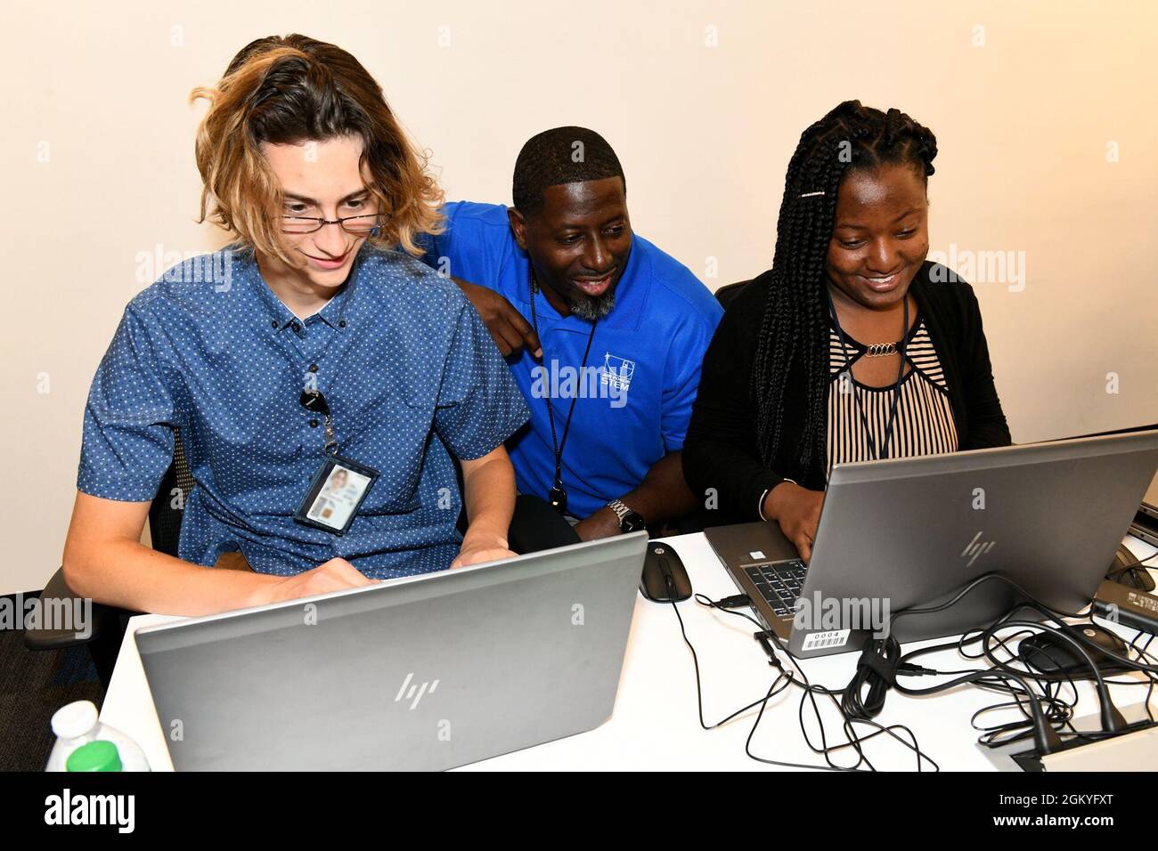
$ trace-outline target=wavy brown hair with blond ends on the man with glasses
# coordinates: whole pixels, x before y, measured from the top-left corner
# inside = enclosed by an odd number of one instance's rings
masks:
[[[427,171],[428,154],[403,132],[382,87],[340,47],[296,34],[258,38],[215,87],[192,90],[190,103],[199,100],[210,108],[197,130],[198,221],[208,219],[257,251],[299,265],[281,240],[281,184],[261,146],[356,135],[364,142],[360,167],[384,214],[371,241],[417,256],[416,239],[442,229],[444,196]]]

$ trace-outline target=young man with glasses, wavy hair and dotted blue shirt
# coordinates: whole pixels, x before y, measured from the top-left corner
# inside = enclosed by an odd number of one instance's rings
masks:
[[[125,310],[85,412],[68,585],[198,615],[512,555],[503,442],[527,408],[459,287],[415,256],[441,193],[381,87],[293,35],[193,97],[201,215],[235,242]],[[196,479],[179,558],[139,543],[175,430]],[[323,493],[339,469],[340,499]],[[207,568],[226,558],[248,570]]]

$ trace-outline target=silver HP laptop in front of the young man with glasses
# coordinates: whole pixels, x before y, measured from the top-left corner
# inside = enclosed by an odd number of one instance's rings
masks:
[[[437,770],[611,714],[646,533],[141,629],[177,770]]]

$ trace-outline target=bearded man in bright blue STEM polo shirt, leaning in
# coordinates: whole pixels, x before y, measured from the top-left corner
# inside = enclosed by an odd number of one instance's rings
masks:
[[[680,452],[723,310],[632,234],[623,169],[598,133],[533,137],[513,199],[447,204],[425,259],[463,288],[530,406],[507,440],[519,491],[582,540],[655,530],[696,505]]]

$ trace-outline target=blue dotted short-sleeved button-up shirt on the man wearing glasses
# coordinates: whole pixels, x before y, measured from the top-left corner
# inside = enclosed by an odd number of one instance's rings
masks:
[[[299,403],[313,381],[338,454],[381,474],[344,536],[293,520],[323,458],[320,418]],[[293,575],[342,557],[373,579],[408,575],[448,567],[461,544],[452,455],[481,457],[526,420],[478,314],[419,261],[364,244],[346,286],[302,321],[251,251],[225,249],[125,309],[93,380],[76,486],[152,500],[179,428],[197,483],[181,558],[241,550]]]

